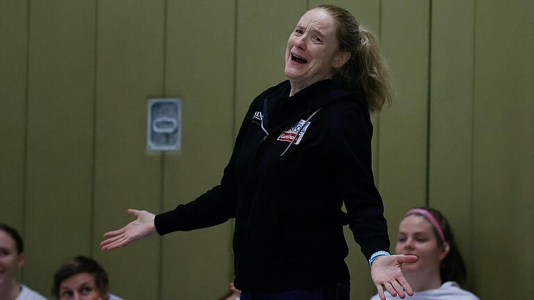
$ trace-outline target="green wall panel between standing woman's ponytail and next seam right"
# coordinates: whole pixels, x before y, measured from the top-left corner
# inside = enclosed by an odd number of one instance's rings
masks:
[[[382,1],[382,49],[396,86],[378,141],[391,251],[403,213],[426,203],[429,13],[428,1]]]

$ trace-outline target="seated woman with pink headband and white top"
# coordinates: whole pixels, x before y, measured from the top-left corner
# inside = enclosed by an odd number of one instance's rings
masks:
[[[453,231],[445,217],[432,208],[409,210],[398,225],[397,254],[419,257],[416,263],[403,263],[406,280],[416,300],[480,300],[460,284],[467,271],[454,242]],[[387,299],[391,297],[385,292]],[[378,300],[378,294],[371,300]]]

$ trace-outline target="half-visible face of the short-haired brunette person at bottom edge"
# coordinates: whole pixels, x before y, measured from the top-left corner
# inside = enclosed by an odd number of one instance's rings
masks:
[[[104,296],[89,273],[72,275],[59,285],[59,300],[102,300]]]

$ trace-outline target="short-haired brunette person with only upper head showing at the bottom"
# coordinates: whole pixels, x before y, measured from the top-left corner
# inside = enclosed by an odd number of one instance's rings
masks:
[[[76,256],[54,274],[52,294],[58,300],[122,300],[109,294],[108,274],[96,260]]]

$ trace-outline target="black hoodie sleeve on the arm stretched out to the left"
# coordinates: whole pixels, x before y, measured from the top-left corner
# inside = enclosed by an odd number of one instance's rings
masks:
[[[154,224],[159,235],[174,231],[191,231],[197,228],[206,228],[223,224],[236,214],[236,185],[234,178],[234,165],[236,156],[241,147],[243,137],[252,118],[251,110],[254,101],[239,129],[234,150],[229,163],[223,172],[219,185],[205,192],[200,197],[187,204],[180,204],[174,210],[156,215]]]

